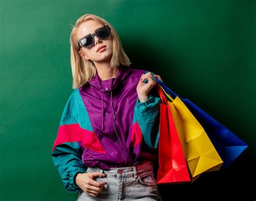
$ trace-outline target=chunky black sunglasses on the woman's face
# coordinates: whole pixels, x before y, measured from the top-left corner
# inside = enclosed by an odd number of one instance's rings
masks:
[[[78,47],[90,48],[94,45],[95,35],[99,39],[106,39],[111,34],[111,28],[109,25],[104,25],[103,27],[97,28],[93,34],[85,35],[85,37],[78,40]]]

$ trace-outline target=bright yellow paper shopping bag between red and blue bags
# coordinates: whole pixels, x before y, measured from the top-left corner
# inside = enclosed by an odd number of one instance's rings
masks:
[[[204,128],[178,96],[172,99],[166,92],[165,95],[172,100],[168,103],[192,175],[192,181],[206,171],[219,170],[223,160]]]

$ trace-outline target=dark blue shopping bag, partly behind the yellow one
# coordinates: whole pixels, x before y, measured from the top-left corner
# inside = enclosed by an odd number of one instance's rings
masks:
[[[177,97],[171,89],[157,80],[159,85],[163,87],[164,91],[172,98]],[[179,97],[180,98],[180,97]],[[204,127],[208,137],[212,141],[215,149],[219,153],[224,164],[223,167],[227,168],[230,164],[237,159],[237,157],[244,152],[248,145],[239,139],[234,133],[228,130],[224,125],[220,124],[219,121],[212,118],[209,114],[201,110],[197,105],[192,103],[190,100],[180,98],[187,108],[192,112],[193,116],[199,121]]]

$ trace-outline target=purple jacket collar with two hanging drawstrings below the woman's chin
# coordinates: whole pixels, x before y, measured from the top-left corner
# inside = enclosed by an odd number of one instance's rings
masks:
[[[105,92],[107,95],[109,95],[110,92],[110,107],[113,115],[113,119],[116,120],[116,115],[114,111],[114,105],[113,105],[113,97],[112,97],[112,91],[117,87],[117,85],[126,80],[127,77],[129,77],[130,72],[132,69],[127,66],[123,66],[120,64],[117,71],[117,76],[115,78],[110,78],[109,80],[100,80],[100,77],[98,75],[98,72],[96,71],[95,77],[91,78],[90,81],[86,83],[86,85],[92,85],[96,87],[101,93],[102,98],[102,130],[104,130],[104,118],[105,118],[105,110],[103,105],[103,93]]]

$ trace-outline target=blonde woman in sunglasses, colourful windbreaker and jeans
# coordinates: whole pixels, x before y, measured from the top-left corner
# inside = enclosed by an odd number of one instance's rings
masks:
[[[74,90],[52,147],[65,189],[78,200],[161,200],[152,162],[160,76],[131,68],[117,32],[96,15],[76,21],[70,43]]]

